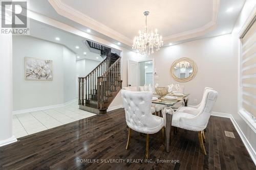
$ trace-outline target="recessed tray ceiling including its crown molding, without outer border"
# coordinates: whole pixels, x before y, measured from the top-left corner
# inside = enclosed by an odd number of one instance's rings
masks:
[[[157,28],[165,41],[201,36],[217,26],[220,0],[49,0],[56,12],[130,45],[145,22]]]

